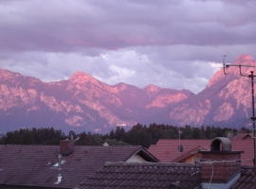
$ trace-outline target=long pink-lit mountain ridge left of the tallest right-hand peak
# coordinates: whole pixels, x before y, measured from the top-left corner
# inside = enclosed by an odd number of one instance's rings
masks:
[[[0,131],[53,127],[102,132],[149,123],[155,113],[192,95],[152,84],[144,89],[125,83],[109,86],[82,72],[46,83],[0,69]]]

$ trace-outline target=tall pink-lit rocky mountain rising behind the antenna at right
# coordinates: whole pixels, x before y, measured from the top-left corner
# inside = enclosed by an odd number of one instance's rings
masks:
[[[233,65],[256,66],[256,62],[249,55],[241,55]],[[241,72],[245,76],[250,75],[250,71],[256,72],[256,69],[241,67]],[[229,128],[251,126],[251,78],[242,77],[239,66],[230,66],[226,73],[227,75],[221,69],[210,79],[208,86],[201,93],[174,106],[168,112],[171,123]]]

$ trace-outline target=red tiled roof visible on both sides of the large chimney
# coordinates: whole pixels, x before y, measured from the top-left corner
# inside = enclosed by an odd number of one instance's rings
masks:
[[[160,162],[171,163],[190,152],[196,146],[202,146],[210,150],[212,140],[180,140],[183,146],[183,152],[178,151],[178,140],[160,139],[156,145],[151,145],[148,149]],[[252,140],[231,140],[232,151],[245,151],[241,154],[242,164],[252,164],[253,159],[253,142]]]

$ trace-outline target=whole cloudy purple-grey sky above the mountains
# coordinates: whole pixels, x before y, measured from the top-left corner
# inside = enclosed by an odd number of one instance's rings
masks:
[[[0,68],[45,82],[198,94],[241,54],[256,59],[256,0],[0,0]]]

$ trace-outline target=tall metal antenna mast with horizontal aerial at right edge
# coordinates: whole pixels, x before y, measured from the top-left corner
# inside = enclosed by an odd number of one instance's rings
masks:
[[[254,189],[256,189],[256,164],[255,164],[255,158],[256,158],[256,149],[255,149],[255,110],[254,110],[254,77],[256,77],[254,75],[253,71],[250,71],[250,75],[243,75],[242,74],[242,67],[256,67],[253,65],[241,65],[241,64],[225,64],[225,57],[227,57],[226,55],[223,56],[223,69],[224,69],[224,74],[227,75],[227,73],[225,72],[225,68],[229,68],[230,66],[236,66],[239,67],[240,70],[240,75],[241,77],[249,77],[250,78],[250,82],[251,82],[251,107],[252,107],[252,117],[250,117],[250,119],[252,120],[252,141],[253,141],[253,173],[254,173]]]

